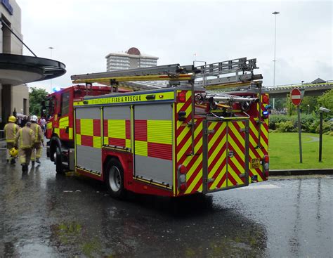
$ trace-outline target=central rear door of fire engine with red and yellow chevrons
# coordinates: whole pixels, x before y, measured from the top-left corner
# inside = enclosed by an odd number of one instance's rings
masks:
[[[204,123],[205,191],[248,185],[248,120],[207,120]]]

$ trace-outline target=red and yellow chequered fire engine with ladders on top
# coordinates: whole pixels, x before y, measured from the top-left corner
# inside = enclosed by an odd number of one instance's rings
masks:
[[[56,172],[104,181],[116,198],[267,180],[270,105],[256,68],[256,59],[238,58],[72,75],[84,85],[48,101],[47,155]]]

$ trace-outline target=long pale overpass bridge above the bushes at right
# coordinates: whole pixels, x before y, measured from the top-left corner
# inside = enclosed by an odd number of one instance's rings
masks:
[[[294,88],[304,90],[304,96],[320,96],[325,91],[333,89],[333,80],[322,83],[286,84],[264,87],[270,94],[270,98],[285,98]]]

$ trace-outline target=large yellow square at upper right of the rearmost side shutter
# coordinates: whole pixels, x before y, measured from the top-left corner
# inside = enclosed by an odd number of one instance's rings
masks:
[[[148,142],[172,144],[171,120],[148,120]]]

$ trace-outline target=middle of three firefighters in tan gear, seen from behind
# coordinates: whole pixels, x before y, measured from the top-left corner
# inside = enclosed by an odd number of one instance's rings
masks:
[[[18,146],[18,157],[22,165],[22,172],[27,172],[30,164],[32,145],[34,144],[34,131],[30,129],[31,123],[27,122],[25,127],[18,130],[15,136],[15,146]]]

